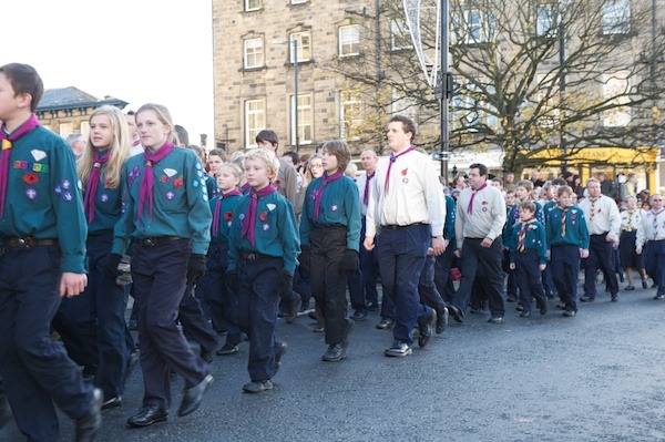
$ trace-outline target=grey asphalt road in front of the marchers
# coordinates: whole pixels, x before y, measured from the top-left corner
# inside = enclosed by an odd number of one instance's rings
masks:
[[[280,320],[289,347],[274,390],[242,392],[244,343],[215,358],[200,411],[175,417],[176,379],[168,421],[134,430],[125,422],[141,405],[136,370],[122,407],[104,411],[100,441],[664,441],[665,302],[654,289],[620,295],[598,294],[575,318],[554,300],[531,318],[507,304],[502,325],[469,315],[406,358],[383,357],[391,333],[375,328],[372,312],[338,363],[321,362],[326,345],[310,319]],[[72,422],[61,425],[71,440]],[[13,422],[0,431],[0,441],[22,440]]]

